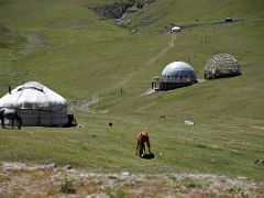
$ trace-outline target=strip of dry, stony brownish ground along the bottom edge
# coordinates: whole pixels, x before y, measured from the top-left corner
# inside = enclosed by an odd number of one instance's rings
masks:
[[[210,174],[96,174],[3,163],[0,197],[262,197],[264,183]]]

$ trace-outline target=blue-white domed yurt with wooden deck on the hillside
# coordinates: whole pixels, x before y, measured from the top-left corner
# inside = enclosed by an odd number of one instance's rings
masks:
[[[194,68],[184,62],[173,62],[162,72],[161,77],[152,80],[152,89],[170,90],[197,82]]]

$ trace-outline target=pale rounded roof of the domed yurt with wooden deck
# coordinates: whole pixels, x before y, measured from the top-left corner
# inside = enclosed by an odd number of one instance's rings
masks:
[[[164,68],[164,70],[162,72],[162,76],[172,76],[184,72],[195,73],[194,68],[189,64],[184,62],[173,62]]]

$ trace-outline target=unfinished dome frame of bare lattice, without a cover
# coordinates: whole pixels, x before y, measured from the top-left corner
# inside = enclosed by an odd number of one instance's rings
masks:
[[[217,54],[207,61],[205,79],[224,78],[241,75],[240,64],[230,54]]]

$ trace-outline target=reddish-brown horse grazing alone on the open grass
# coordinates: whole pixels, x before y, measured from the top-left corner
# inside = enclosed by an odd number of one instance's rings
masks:
[[[140,154],[140,157],[142,157],[143,154],[145,153],[145,143],[147,145],[148,153],[151,154],[151,144],[150,144],[148,133],[145,131],[141,131],[138,134],[138,143],[136,143],[136,151],[135,151],[135,154],[136,155]]]

